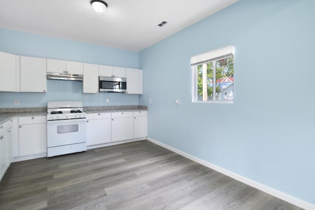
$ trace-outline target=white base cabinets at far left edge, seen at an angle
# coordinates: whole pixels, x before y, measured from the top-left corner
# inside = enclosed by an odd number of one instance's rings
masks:
[[[0,180],[12,162],[12,120],[0,125]]]

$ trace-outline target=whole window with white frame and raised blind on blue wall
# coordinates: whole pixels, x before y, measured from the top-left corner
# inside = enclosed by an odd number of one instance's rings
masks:
[[[227,46],[191,58],[192,102],[233,103],[233,51]]]

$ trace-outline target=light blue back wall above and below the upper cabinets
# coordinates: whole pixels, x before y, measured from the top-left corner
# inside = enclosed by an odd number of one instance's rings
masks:
[[[32,33],[0,29],[0,51],[59,60],[138,68],[138,53]],[[34,81],[36,82],[36,81]],[[110,103],[106,103],[106,98]],[[19,99],[20,105],[14,105]],[[137,105],[138,95],[83,94],[82,82],[47,80],[47,93],[0,92],[0,108],[44,107],[48,101],[79,100],[84,106]]]

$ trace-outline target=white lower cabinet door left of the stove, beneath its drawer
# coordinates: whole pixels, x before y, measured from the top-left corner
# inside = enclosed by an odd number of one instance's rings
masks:
[[[46,130],[46,123],[20,125],[20,156],[46,152]]]

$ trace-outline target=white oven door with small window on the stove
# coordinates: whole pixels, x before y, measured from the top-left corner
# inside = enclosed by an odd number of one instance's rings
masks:
[[[86,119],[47,121],[47,147],[84,143],[87,141]]]

